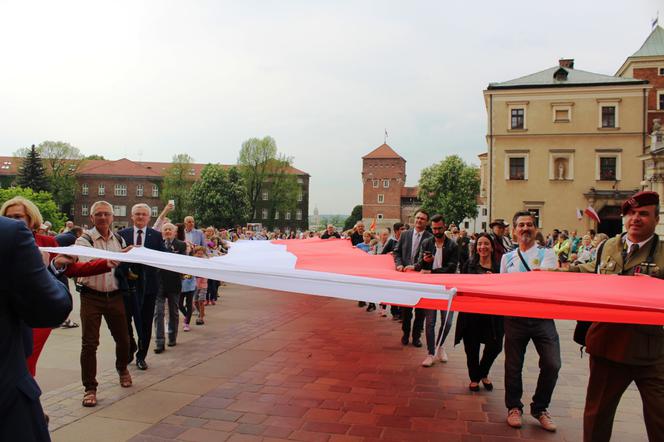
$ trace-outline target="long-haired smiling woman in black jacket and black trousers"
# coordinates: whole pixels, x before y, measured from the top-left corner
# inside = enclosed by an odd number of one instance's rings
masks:
[[[486,233],[480,233],[473,246],[473,258],[461,268],[461,273],[499,273],[500,264],[493,260],[493,243]],[[454,345],[463,339],[471,391],[480,390],[480,381],[488,391],[493,390],[489,370],[503,349],[503,317],[476,313],[459,313]],[[480,360],[480,344],[484,352]]]

